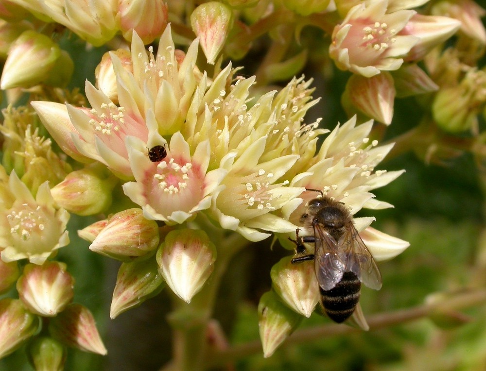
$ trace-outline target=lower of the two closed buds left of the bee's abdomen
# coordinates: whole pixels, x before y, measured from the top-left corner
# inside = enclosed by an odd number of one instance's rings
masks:
[[[292,334],[302,316],[282,304],[274,291],[264,293],[258,304],[258,326],[263,356],[270,357],[278,346]]]

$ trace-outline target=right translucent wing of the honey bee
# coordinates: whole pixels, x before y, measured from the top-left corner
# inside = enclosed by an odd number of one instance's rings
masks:
[[[346,226],[346,232],[339,239],[338,252],[340,261],[367,287],[374,290],[382,288],[382,275],[375,259],[361,239],[352,223]]]

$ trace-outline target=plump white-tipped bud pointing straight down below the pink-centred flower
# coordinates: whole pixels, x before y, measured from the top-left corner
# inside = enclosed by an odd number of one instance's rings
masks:
[[[216,248],[205,232],[169,232],[156,255],[159,272],[174,293],[187,303],[203,287],[214,269]]]

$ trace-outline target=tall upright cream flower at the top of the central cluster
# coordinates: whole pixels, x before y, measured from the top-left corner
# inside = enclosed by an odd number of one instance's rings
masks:
[[[172,135],[186,120],[196,88],[197,40],[182,58],[176,53],[171,27],[167,26],[157,52],[147,53],[140,37],[134,33],[131,53],[133,73],[117,55],[111,54],[117,76],[118,100],[127,116],[148,120],[152,115],[160,135]],[[198,77],[197,77],[198,78]],[[136,135],[139,136],[139,135]]]

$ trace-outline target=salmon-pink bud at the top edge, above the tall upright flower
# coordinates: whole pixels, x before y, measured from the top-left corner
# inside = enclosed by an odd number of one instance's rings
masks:
[[[135,31],[144,44],[150,44],[167,26],[169,9],[162,0],[119,0],[118,16],[125,40],[131,42]]]

